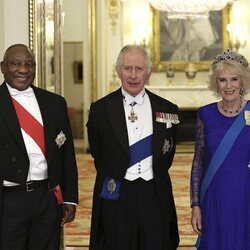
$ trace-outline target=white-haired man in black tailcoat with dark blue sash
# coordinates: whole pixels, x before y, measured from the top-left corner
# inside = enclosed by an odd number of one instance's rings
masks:
[[[125,46],[116,62],[122,87],[90,107],[97,171],[91,250],[173,250],[179,244],[168,174],[178,107],[145,89],[151,68],[144,48]]]

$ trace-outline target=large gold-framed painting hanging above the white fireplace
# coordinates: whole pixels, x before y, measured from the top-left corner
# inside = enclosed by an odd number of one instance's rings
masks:
[[[190,63],[197,71],[206,71],[213,57],[229,47],[226,26],[231,5],[210,12],[208,19],[167,19],[167,12],[152,11],[151,55],[155,72],[166,71],[169,66],[185,71]]]

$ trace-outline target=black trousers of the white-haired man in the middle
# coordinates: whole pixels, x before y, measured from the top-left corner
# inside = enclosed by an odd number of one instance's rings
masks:
[[[162,212],[154,180],[124,180],[119,201],[103,200],[107,250],[162,250]]]

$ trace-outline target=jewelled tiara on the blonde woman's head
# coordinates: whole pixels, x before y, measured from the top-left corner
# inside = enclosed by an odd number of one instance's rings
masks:
[[[246,58],[230,49],[227,49],[222,54],[216,56],[211,67],[214,68],[220,61],[235,61],[242,64],[246,68],[248,67],[248,61]]]

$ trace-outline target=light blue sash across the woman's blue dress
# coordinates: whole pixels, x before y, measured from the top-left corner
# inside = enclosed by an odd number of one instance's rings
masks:
[[[236,118],[234,123],[231,125],[231,127],[228,129],[224,137],[222,138],[219,146],[217,147],[209,165],[206,171],[206,174],[203,178],[202,184],[201,184],[201,190],[200,190],[200,204],[202,204],[204,196],[207,192],[207,189],[212,182],[215,174],[219,170],[221,164],[225,160],[226,156],[228,155],[228,152],[233,146],[234,141],[242,131],[242,129],[246,125],[246,121],[244,119],[244,111],[246,109],[250,109],[250,103],[247,103],[243,111],[239,114],[239,116]],[[200,236],[198,237],[198,240],[196,242],[196,247],[198,248],[200,245]]]

